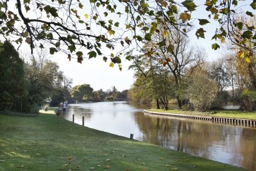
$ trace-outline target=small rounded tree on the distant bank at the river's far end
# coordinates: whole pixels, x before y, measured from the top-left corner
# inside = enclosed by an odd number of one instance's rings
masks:
[[[79,101],[87,100],[91,98],[93,88],[90,85],[76,85],[71,90],[71,95]]]

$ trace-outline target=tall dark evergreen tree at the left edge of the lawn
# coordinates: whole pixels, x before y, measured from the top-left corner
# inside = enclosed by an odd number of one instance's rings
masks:
[[[24,62],[9,41],[2,45],[0,53],[0,109],[22,112],[22,100],[26,97]]]

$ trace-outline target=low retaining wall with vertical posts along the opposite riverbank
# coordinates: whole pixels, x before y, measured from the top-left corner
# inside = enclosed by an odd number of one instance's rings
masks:
[[[144,113],[157,115],[157,116],[169,116],[174,118],[204,120],[204,121],[211,121],[211,122],[220,123],[220,124],[230,124],[235,126],[256,127],[256,120],[253,120],[253,119],[225,118],[225,117],[216,117],[216,116],[199,116],[199,115],[192,115],[192,114],[159,113],[159,112],[153,112],[153,111],[147,111],[147,110],[144,110]]]

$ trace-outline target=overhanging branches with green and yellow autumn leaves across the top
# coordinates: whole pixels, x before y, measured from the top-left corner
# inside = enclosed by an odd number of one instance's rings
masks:
[[[239,13],[236,12],[236,6],[240,5],[240,1],[237,0],[205,1],[205,12],[209,12],[209,19],[193,16],[194,11],[199,9],[193,0],[182,2],[90,0],[89,2],[26,0],[22,3],[21,0],[1,1],[0,34],[6,38],[14,37],[17,44],[26,42],[30,45],[31,52],[37,45],[43,47],[42,42],[48,42],[51,45],[48,47],[51,54],[63,51],[68,54],[69,60],[71,55],[76,55],[77,62],[80,63],[84,56],[84,53],[80,51],[81,47],[87,49],[89,58],[105,55],[102,54],[101,48],[106,46],[109,49],[114,49],[115,42],[121,43],[125,47],[134,43],[139,47],[139,42],[149,41],[151,35],[158,31],[158,25],[163,23],[169,23],[181,34],[186,35],[186,30],[180,29],[179,25],[192,25],[194,19],[199,22],[199,25],[217,21],[219,26],[216,27],[213,39],[222,42],[225,39],[230,39],[234,44],[245,49],[247,47],[243,41],[255,37],[255,28],[250,25],[244,28],[242,22],[234,20]],[[250,7],[255,10],[256,2],[249,1],[247,4],[249,3]],[[12,7],[12,4],[15,4],[15,7]],[[84,14],[82,9],[90,5],[91,10],[87,10],[89,14]],[[174,17],[178,14],[178,7],[182,10],[179,20]],[[251,12],[252,9],[246,11],[245,14],[249,17],[254,16]],[[114,22],[117,17],[121,17],[121,21],[124,22]],[[204,38],[206,30],[202,26],[199,27],[195,35],[198,38]],[[241,39],[238,42],[231,36],[237,32],[242,33],[239,35]],[[219,47],[217,43],[212,45],[212,49],[219,49]],[[116,56],[109,55],[112,58],[111,66],[121,62],[119,55],[119,53]],[[106,56],[104,60],[107,60]]]

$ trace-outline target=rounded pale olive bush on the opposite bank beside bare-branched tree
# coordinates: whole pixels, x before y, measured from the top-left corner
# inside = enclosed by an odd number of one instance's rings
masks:
[[[217,85],[208,73],[198,68],[189,78],[189,100],[198,111],[207,111],[217,94]]]

